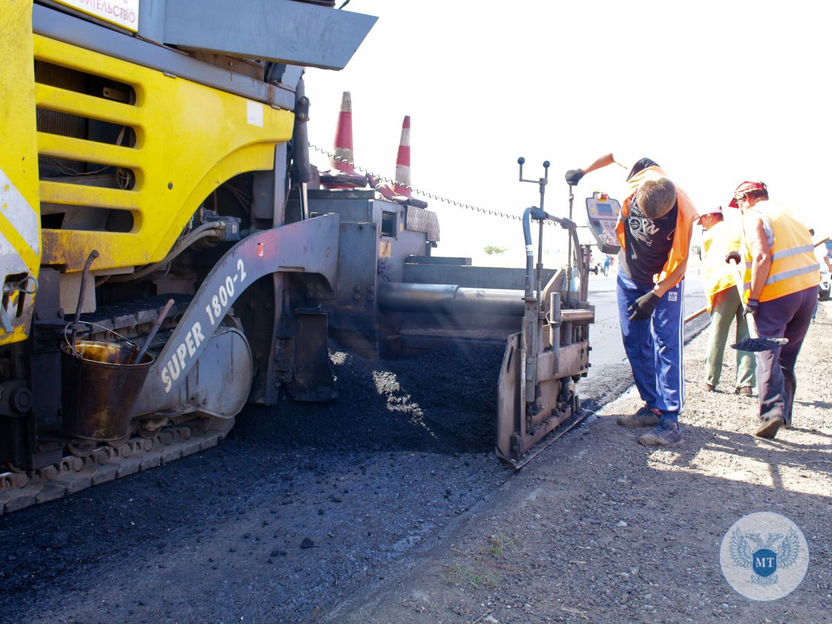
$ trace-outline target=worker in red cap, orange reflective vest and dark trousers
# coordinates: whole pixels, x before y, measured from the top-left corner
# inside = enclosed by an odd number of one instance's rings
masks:
[[[774,438],[781,426],[791,424],[795,361],[818,298],[819,265],[809,228],[769,201],[763,182],[742,182],[729,206],[742,212],[744,314],[753,315],[760,338],[788,339],[782,347],[756,354],[761,422],[755,435]]]

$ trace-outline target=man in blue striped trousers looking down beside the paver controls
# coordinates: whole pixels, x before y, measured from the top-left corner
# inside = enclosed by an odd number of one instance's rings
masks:
[[[585,174],[613,163],[630,171],[616,225],[621,243],[618,315],[633,379],[645,402],[636,414],[623,415],[617,422],[653,427],[638,438],[641,444],[677,444],[685,403],[682,300],[696,209],[685,191],[649,158],[628,163],[613,154],[600,156],[585,169],[567,171],[567,183],[575,186]]]

